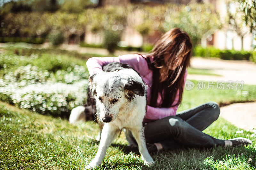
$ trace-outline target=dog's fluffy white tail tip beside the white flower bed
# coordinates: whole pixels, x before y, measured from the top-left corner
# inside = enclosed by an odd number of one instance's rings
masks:
[[[85,116],[85,107],[84,106],[78,106],[71,110],[71,114],[69,116],[69,123],[76,124],[78,122],[85,122],[86,116]]]

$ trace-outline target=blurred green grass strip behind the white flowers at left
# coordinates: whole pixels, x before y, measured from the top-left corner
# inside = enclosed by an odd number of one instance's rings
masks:
[[[72,65],[86,67],[86,60],[91,57],[102,57],[98,54],[80,54],[74,51],[60,49],[29,49],[29,48],[2,48],[0,54],[0,76],[15,71],[20,66],[32,65],[49,72],[67,70]],[[4,68],[5,67],[5,68]]]

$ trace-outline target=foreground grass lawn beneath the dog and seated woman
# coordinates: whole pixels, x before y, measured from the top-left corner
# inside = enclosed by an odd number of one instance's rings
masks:
[[[216,138],[250,138],[222,118],[204,132]],[[98,148],[98,125],[71,125],[67,120],[39,115],[0,103],[0,169],[84,169]],[[183,148],[153,155],[156,164],[144,166],[137,149],[124,134],[108,148],[99,169],[255,169],[256,145],[246,147]],[[253,161],[248,163],[248,159]]]

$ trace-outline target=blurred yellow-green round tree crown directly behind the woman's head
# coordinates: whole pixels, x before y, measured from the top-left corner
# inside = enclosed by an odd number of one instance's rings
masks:
[[[172,5],[165,16],[165,31],[178,27],[190,35],[193,45],[198,44],[202,37],[207,38],[221,27],[219,15],[212,5],[207,3]]]

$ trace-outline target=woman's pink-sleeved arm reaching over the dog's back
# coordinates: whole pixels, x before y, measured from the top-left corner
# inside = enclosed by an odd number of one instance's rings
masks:
[[[102,71],[102,67],[110,62],[121,62],[129,64],[134,70],[140,73],[140,68],[145,67],[146,60],[139,54],[120,55],[118,57],[92,57],[87,60],[86,66],[89,74],[92,75],[96,72]]]

